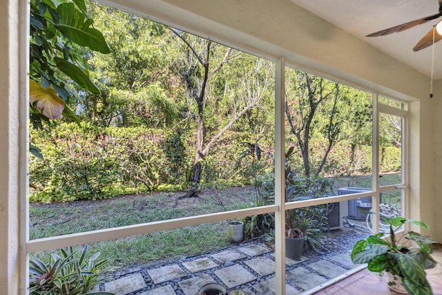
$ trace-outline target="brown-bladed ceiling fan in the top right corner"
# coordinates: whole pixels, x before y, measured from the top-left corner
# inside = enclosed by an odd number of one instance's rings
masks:
[[[422,17],[421,19],[416,19],[414,21],[402,23],[401,25],[394,26],[392,28],[386,28],[378,32],[373,32],[372,34],[367,35],[367,37],[378,37],[378,36],[389,35],[392,34],[393,32],[402,32],[404,30],[408,30],[409,28],[413,28],[414,26],[426,23],[427,21],[431,21],[432,19],[438,19],[439,17],[442,17],[442,0],[439,0],[439,12],[436,13],[435,15],[429,15],[427,17]],[[441,28],[437,28],[439,25]],[[427,35],[425,35],[416,44],[416,46],[414,46],[413,51],[419,51],[423,48],[427,48],[428,46],[440,40],[442,40],[442,22],[439,22],[437,23],[437,25],[433,26],[433,28],[429,32],[427,32]]]

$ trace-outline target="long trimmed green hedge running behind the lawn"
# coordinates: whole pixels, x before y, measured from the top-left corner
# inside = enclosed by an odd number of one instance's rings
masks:
[[[227,131],[202,163],[202,187],[241,186],[253,175],[273,172],[273,138],[260,139],[261,160],[241,158],[244,142],[259,135]],[[30,141],[41,149],[44,160],[30,156],[30,200],[66,202],[112,198],[152,190],[186,189],[195,153],[192,132],[164,129],[101,128],[84,124],[60,124],[50,131],[32,129]],[[321,151],[320,141],[311,142]],[[329,154],[325,176],[356,175],[371,169],[371,146],[342,142]],[[311,159],[315,155],[311,155]],[[302,164],[299,160],[298,164]],[[400,150],[386,147],[381,171],[400,169]],[[298,167],[300,168],[300,167]]]

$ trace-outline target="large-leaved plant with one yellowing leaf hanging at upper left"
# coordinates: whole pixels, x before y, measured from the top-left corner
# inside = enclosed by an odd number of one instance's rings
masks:
[[[61,114],[79,122],[65,105],[70,98],[79,99],[69,82],[100,93],[88,75],[83,50],[88,47],[104,54],[111,50],[102,33],[91,27],[93,19],[86,10],[84,0],[30,1],[30,117],[35,126]]]

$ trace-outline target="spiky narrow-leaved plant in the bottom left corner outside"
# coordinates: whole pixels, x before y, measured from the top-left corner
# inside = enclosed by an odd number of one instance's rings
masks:
[[[111,270],[107,259],[97,260],[99,253],[86,258],[88,246],[83,250],[61,249],[61,256],[52,254],[49,263],[30,257],[29,294],[113,294],[92,292],[95,285],[104,280],[103,274]]]

